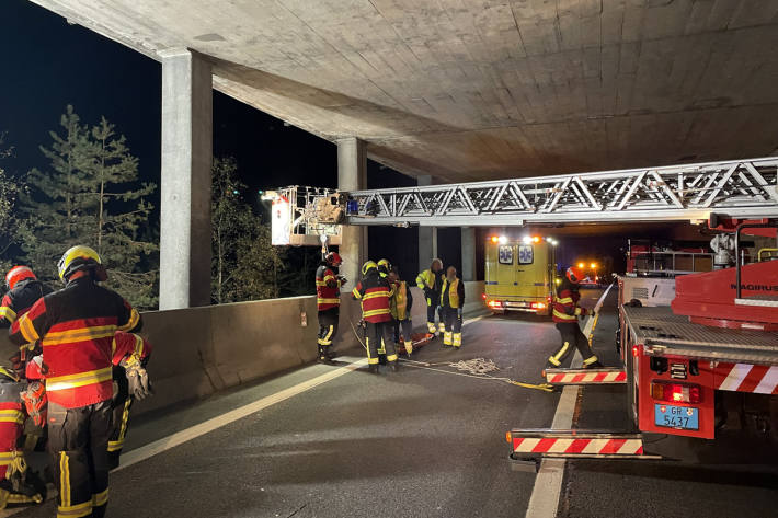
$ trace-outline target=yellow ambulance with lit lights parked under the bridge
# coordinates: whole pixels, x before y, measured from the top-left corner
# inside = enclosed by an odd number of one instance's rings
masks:
[[[484,301],[493,313],[526,311],[548,315],[554,291],[553,238],[490,235],[485,248]]]

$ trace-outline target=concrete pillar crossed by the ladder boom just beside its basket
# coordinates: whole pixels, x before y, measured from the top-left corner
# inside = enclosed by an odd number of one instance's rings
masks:
[[[357,138],[337,140],[337,188],[359,191],[367,187],[367,153],[365,142]],[[362,264],[367,261],[367,227],[344,226],[340,254],[340,273],[354,286],[359,279]],[[351,289],[351,288],[350,288]]]

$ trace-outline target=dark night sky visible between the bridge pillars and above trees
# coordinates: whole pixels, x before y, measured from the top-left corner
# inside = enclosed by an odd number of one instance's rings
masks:
[[[4,146],[14,149],[13,157],[3,161],[8,172],[21,174],[47,166],[38,146],[49,145],[48,130],[58,127],[65,106],[72,104],[82,122],[96,124],[104,115],[115,124],[140,160],[141,179],[159,183],[161,66],[157,61],[84,27],[69,25],[25,0],[0,2],[0,46],[4,50],[0,134],[5,134]],[[214,92],[214,156],[237,159],[239,174],[249,186],[245,198],[255,206],[258,188],[336,186],[333,143],[218,92]],[[368,187],[414,184],[413,179],[368,161]],[[155,205],[159,206],[158,199]],[[487,239],[490,232],[480,231],[479,239]],[[571,239],[565,262],[593,249],[620,255],[626,237],[633,232],[625,229],[621,234],[594,240]],[[459,229],[438,230],[439,254],[458,269],[459,235]],[[415,228],[373,228],[369,250],[374,260],[389,257],[404,277],[415,276]],[[482,270],[482,264],[479,266]]]

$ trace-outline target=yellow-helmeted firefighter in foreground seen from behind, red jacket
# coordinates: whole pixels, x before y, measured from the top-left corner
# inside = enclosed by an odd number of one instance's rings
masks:
[[[57,266],[65,288],[35,302],[10,337],[18,345],[43,345],[57,515],[101,518],[108,502],[111,348],[116,331],[140,327],[140,315],[99,285],[107,274],[89,246],[71,248]]]

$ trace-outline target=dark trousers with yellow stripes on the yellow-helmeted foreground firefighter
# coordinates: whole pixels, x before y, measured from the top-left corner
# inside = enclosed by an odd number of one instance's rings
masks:
[[[48,403],[48,452],[57,518],[102,518],[108,504],[111,401],[65,408]]]

